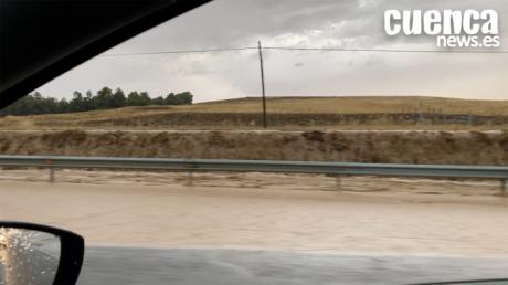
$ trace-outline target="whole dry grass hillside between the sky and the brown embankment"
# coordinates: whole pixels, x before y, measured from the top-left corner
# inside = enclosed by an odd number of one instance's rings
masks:
[[[147,106],[73,114],[0,118],[0,129],[182,129],[258,128],[261,99],[254,97],[191,106]],[[441,97],[268,98],[274,128],[499,129],[508,126],[508,101]],[[473,116],[468,119],[465,116]]]

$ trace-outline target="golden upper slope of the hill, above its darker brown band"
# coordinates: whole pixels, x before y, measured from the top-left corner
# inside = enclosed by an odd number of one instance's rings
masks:
[[[261,109],[260,98],[195,104],[179,112],[251,113]],[[508,101],[474,101],[424,96],[350,96],[268,98],[267,110],[289,114],[377,114],[441,112],[447,114],[508,115]]]

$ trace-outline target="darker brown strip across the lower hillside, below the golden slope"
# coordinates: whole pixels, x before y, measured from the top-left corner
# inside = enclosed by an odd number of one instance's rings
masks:
[[[469,125],[501,126],[506,116],[468,116],[446,114],[267,114],[272,127],[284,126],[342,126],[342,125]],[[81,122],[78,126],[154,127],[154,126],[262,126],[260,114],[236,113],[174,113],[145,115],[129,118]]]

